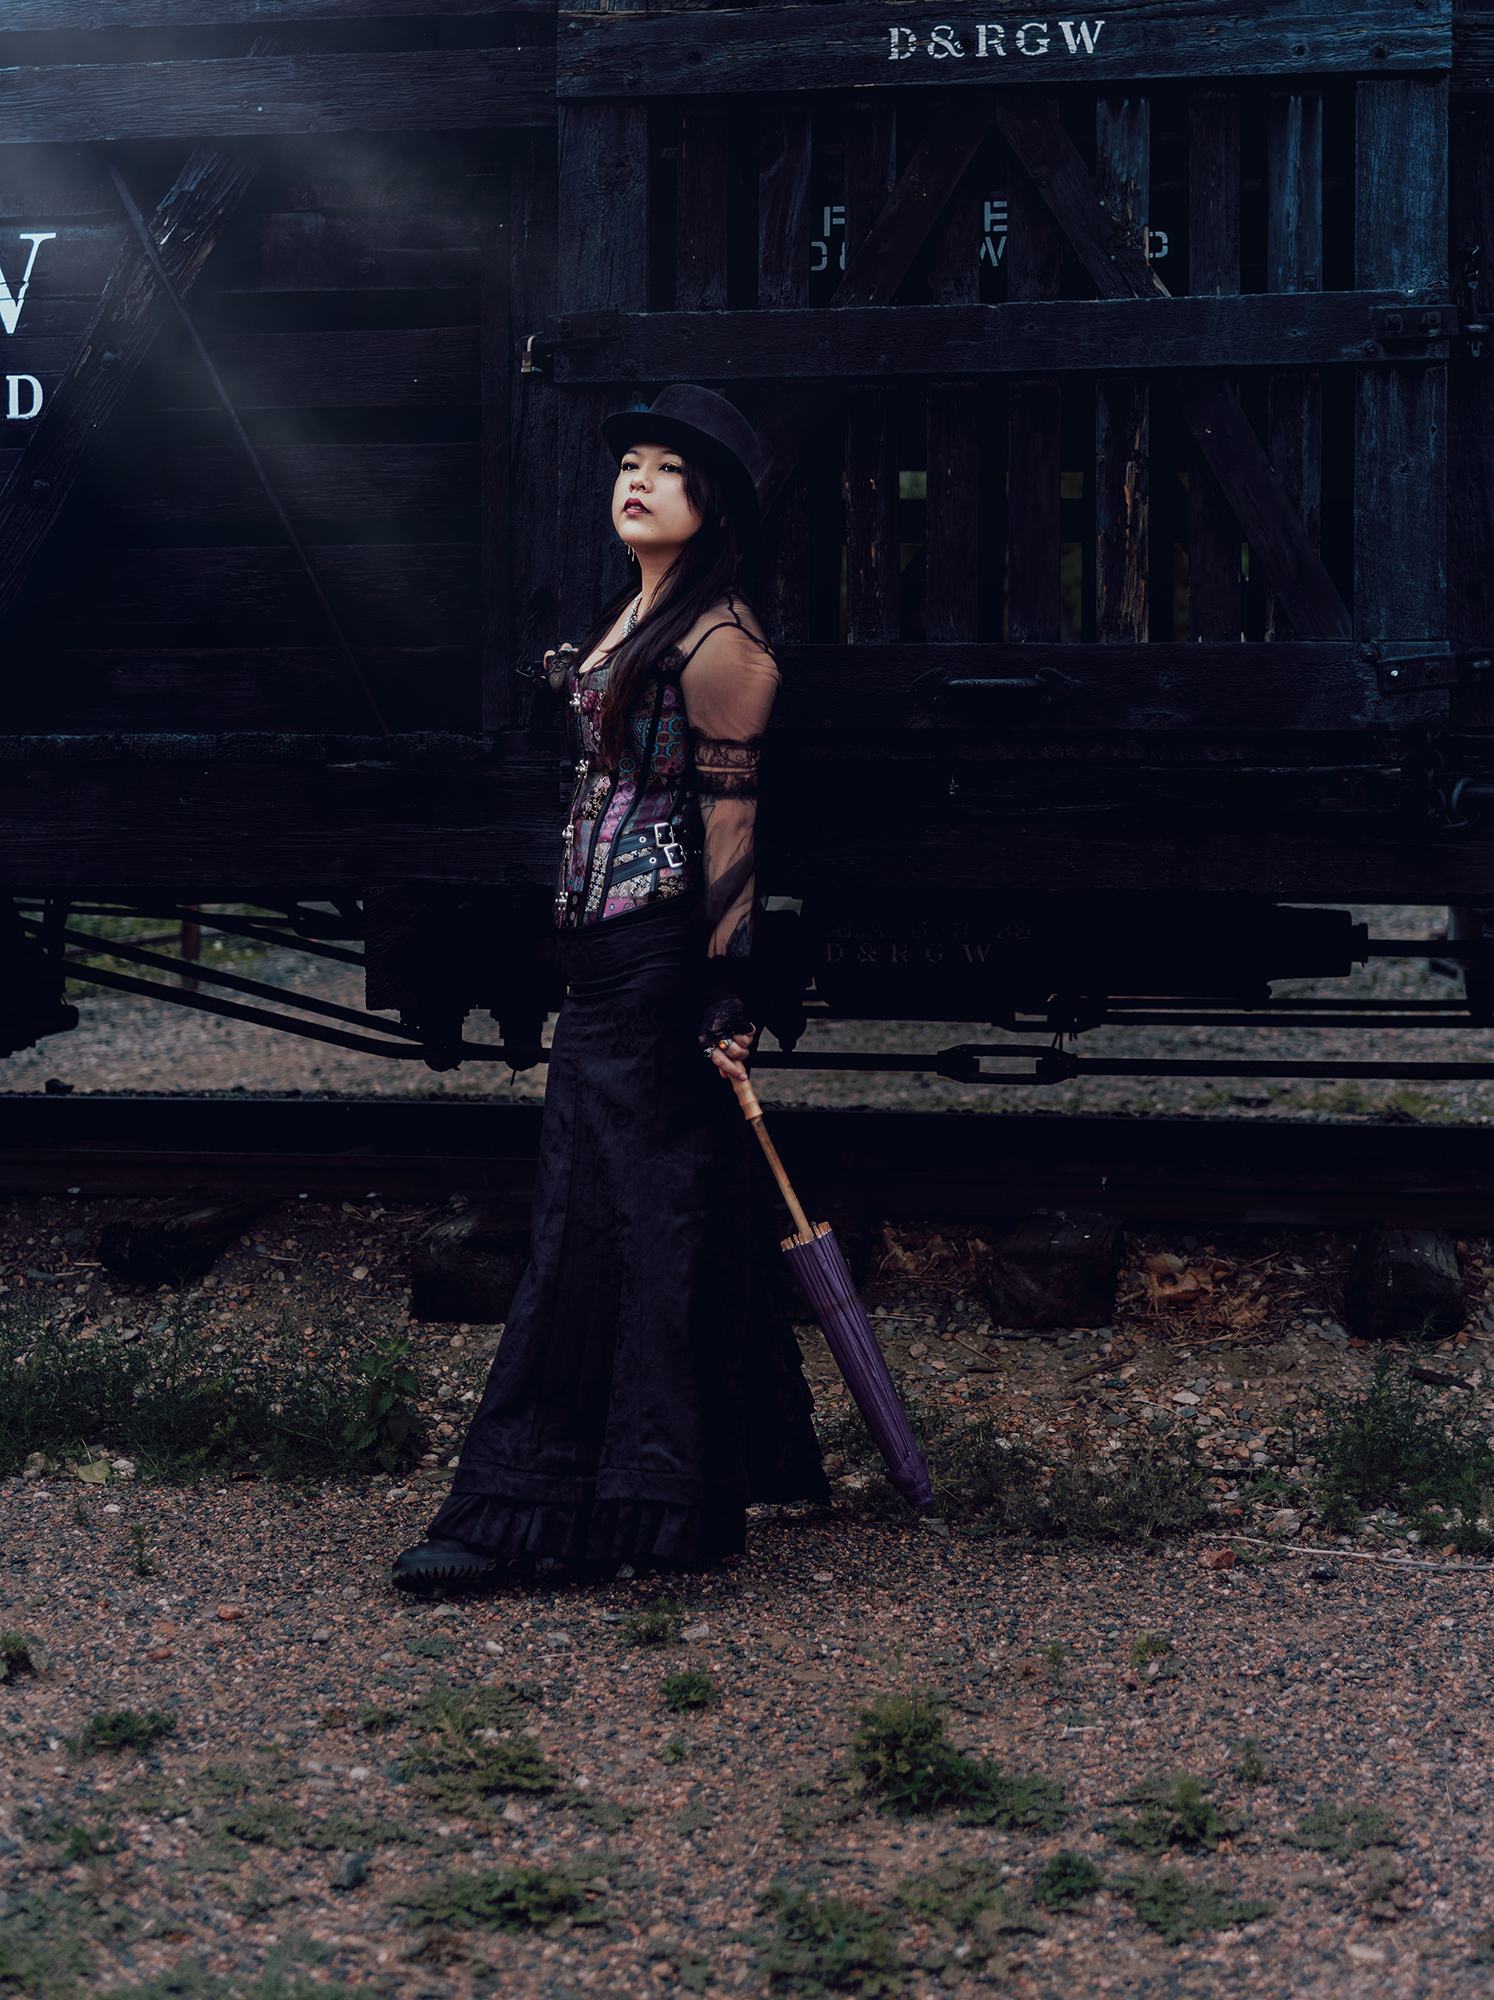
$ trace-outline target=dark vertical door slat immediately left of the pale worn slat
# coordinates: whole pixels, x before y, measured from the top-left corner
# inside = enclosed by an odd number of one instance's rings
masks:
[[[1058,128],[1058,106],[1030,124]],[[1002,118],[1006,132],[1008,120]],[[1008,134],[1010,142],[1010,134]],[[1030,174],[1006,188],[1006,290],[1012,302],[1058,298],[1064,240]],[[1056,640],[1062,628],[1058,514],[1060,412],[1054,376],[1018,376],[1008,392],[1008,628],[1014,644]]]

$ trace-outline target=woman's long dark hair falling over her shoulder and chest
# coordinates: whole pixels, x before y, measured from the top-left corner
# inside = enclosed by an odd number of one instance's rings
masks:
[[[732,594],[738,602],[744,602],[738,588],[742,550],[738,548],[736,522],[726,508],[720,482],[714,474],[692,466],[688,458],[680,458],[680,464],[684,466],[684,494],[700,516],[700,528],[664,572],[648,612],[606,656],[612,672],[608,676],[602,714],[596,718],[596,734],[602,758],[610,770],[618,768],[628,748],[628,718],[638,706],[650,670],[724,596]],[[638,586],[628,584],[626,590],[620,590],[612,598],[598,624],[586,636],[582,660],[588,660],[596,652],[624,606],[632,604],[636,596]]]

